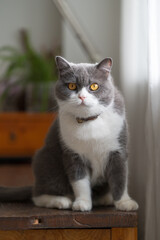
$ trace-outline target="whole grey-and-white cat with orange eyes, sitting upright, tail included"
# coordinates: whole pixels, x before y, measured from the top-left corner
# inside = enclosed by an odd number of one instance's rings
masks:
[[[0,201],[32,199],[38,207],[75,211],[138,209],[127,190],[128,128],[112,59],[74,64],[57,56],[56,64],[58,117],[33,158],[35,184],[1,187]]]

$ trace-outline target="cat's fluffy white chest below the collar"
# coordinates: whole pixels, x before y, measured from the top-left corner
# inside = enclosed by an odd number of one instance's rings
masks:
[[[118,137],[122,125],[123,117],[114,112],[106,112],[96,120],[84,123],[77,123],[71,116],[60,117],[62,139],[70,149],[90,162],[93,185],[103,176],[109,153],[120,147]]]

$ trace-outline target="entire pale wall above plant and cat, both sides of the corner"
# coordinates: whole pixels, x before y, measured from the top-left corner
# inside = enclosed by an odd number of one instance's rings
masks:
[[[121,0],[65,0],[102,58],[113,58],[113,76],[119,80],[119,24]],[[62,42],[63,56],[88,62],[70,26],[51,0],[0,0],[0,47],[19,47],[18,30],[30,31],[33,46],[52,48]]]

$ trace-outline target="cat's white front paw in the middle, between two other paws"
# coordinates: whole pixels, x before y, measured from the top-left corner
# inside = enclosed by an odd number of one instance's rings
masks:
[[[74,211],[90,211],[92,209],[91,200],[77,199],[72,205]]]

